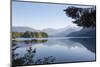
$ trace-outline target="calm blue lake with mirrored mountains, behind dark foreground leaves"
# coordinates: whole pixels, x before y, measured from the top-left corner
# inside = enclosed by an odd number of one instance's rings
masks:
[[[36,49],[34,61],[48,58],[48,63],[64,63],[78,61],[95,61],[96,57],[96,39],[95,38],[18,38],[13,39],[17,48],[15,53],[18,57],[23,57],[31,47]],[[49,60],[52,60],[50,62]],[[41,63],[38,63],[41,64]],[[46,63],[44,63],[46,64]]]

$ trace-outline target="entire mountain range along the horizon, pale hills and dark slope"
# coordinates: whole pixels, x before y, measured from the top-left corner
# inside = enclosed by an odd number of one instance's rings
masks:
[[[83,28],[83,29],[77,29],[76,27],[70,27],[70,28],[60,28],[60,29],[52,29],[52,28],[46,28],[43,30],[37,30],[30,27],[12,27],[12,32],[45,32],[50,37],[75,37],[75,36],[95,36],[96,29],[95,28]]]

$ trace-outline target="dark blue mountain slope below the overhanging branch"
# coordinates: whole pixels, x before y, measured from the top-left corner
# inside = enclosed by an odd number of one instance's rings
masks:
[[[95,37],[96,35],[96,28],[83,28],[80,31],[72,32],[67,36],[87,36],[87,37]]]

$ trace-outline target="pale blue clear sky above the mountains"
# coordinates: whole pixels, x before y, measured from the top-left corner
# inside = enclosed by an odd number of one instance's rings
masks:
[[[71,5],[12,2],[12,26],[34,29],[77,27],[63,11]],[[78,6],[87,7],[87,6]]]

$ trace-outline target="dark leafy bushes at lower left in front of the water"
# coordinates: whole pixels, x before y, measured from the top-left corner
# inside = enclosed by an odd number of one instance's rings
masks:
[[[29,47],[23,57],[18,58],[19,54],[15,50],[19,48],[16,44],[12,46],[12,66],[36,65],[36,64],[50,64],[55,61],[55,57],[48,56],[43,59],[35,60],[36,48]]]

